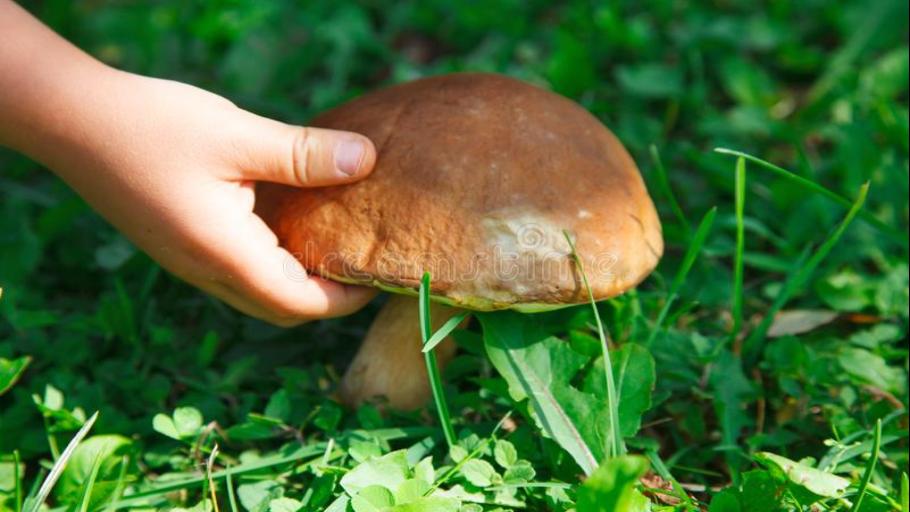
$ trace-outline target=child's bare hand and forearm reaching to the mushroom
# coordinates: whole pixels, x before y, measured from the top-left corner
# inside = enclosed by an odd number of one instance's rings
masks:
[[[0,145],[45,165],[176,276],[282,325],[351,313],[372,289],[307,276],[253,213],[255,183],[350,183],[362,135],[292,126],[179,82],[113,69],[0,0]]]

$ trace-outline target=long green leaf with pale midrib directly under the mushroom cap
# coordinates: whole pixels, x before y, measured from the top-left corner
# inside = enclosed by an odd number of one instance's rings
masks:
[[[529,400],[541,430],[591,474],[604,459],[610,424],[604,398],[571,385],[588,358],[548,336],[535,317],[511,311],[477,317],[487,354],[512,399]]]

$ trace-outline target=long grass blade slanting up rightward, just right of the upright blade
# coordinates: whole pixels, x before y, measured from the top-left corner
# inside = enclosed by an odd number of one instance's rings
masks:
[[[771,323],[774,321],[775,315],[777,315],[777,312],[787,304],[787,301],[790,300],[790,297],[796,290],[808,281],[816,267],[818,267],[822,260],[828,256],[837,242],[841,239],[844,232],[853,222],[853,219],[866,202],[866,195],[868,192],[869,183],[866,182],[860,187],[859,195],[857,196],[856,201],[854,201],[853,206],[851,206],[850,211],[847,212],[844,220],[841,221],[831,235],[829,235],[818,249],[816,249],[815,253],[812,254],[804,265],[799,265],[794,268],[793,273],[787,278],[787,281],[777,294],[777,297],[775,297],[771,307],[765,313],[765,317],[762,319],[761,323],[746,339],[743,347],[743,355],[746,361],[754,361],[758,354],[760,354],[761,344],[765,340],[765,336],[768,333],[768,329],[771,327]]]

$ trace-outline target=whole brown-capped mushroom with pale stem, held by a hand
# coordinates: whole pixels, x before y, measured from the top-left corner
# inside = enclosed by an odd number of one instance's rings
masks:
[[[392,292],[345,374],[350,404],[429,396],[417,290],[432,275],[436,328],[464,308],[535,312],[642,281],[663,252],[660,221],[617,138],[572,101],[501,75],[458,73],[389,87],[313,126],[368,136],[373,174],[322,189],[262,185],[257,208],[303,266]],[[441,364],[454,348],[438,346]]]

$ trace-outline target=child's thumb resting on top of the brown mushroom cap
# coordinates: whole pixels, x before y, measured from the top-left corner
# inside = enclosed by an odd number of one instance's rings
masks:
[[[364,178],[376,163],[376,148],[363,135],[244,114],[238,179],[322,187]]]

